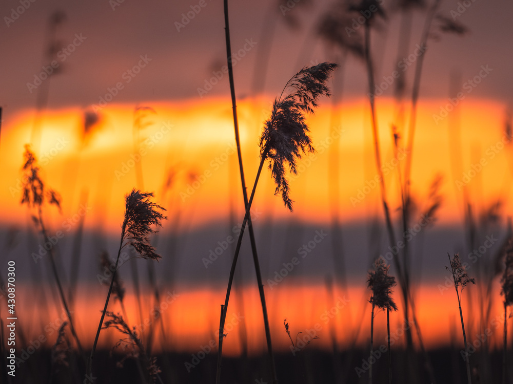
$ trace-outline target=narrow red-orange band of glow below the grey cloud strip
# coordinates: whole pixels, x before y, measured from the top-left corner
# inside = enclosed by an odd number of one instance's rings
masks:
[[[81,343],[85,348],[92,345],[93,335],[100,321],[101,309],[105,304],[106,286],[99,288],[97,285],[83,285],[78,291],[80,299],[73,306],[75,327]],[[370,332],[370,305],[367,302],[369,292],[364,286],[350,287],[344,291],[335,287],[330,295],[324,284],[308,284],[300,281],[287,281],[283,285],[278,283],[273,289],[266,287],[266,301],[269,313],[269,322],[273,345],[279,350],[289,350],[290,340],[283,325],[284,319],[290,326],[290,333],[294,342],[298,332],[299,345],[303,339],[304,343],[315,336],[319,339],[312,341],[317,348],[330,349],[332,346],[331,332],[336,333],[337,343],[340,348],[348,348],[357,335],[358,345],[365,347],[369,340]],[[18,295],[26,295],[25,287],[18,292]],[[395,289],[399,296],[398,288]],[[469,309],[466,305],[467,296],[472,293],[476,297],[475,287],[467,287],[462,296],[462,308],[464,321],[466,322],[466,333],[469,343],[479,339],[480,332],[476,323],[469,322]],[[499,289],[494,289],[496,297]],[[143,297],[144,309],[143,319],[140,320],[139,311],[136,307],[136,299],[132,294],[125,296],[124,302],[128,316],[129,325],[135,327],[139,335],[146,339],[149,333],[149,324],[154,321],[152,314],[156,310],[161,311],[165,324],[165,336],[162,336],[160,325],[156,327],[154,349],[160,350],[162,342],[166,339],[168,349],[182,352],[198,352],[202,346],[207,346],[215,339],[217,344],[217,333],[219,328],[220,303],[224,301],[224,288],[204,289],[163,287],[161,290],[161,301],[156,303],[151,295]],[[241,305],[240,295],[243,295],[244,305]],[[463,338],[460,328],[460,317],[458,301],[453,287],[448,290],[441,290],[437,287],[423,286],[417,291],[416,300],[417,316],[421,327],[423,340],[426,348],[437,348],[450,345],[454,340],[457,348],[462,348]],[[404,347],[404,331],[407,325],[402,317],[402,306],[399,304],[399,311],[390,314],[390,335],[394,339],[392,344],[396,348]],[[91,310],[96,308],[97,310]],[[37,316],[30,315],[37,313]],[[109,303],[109,311],[123,314],[119,302],[113,297]],[[56,311],[54,306],[34,308],[29,301],[20,301],[18,305],[19,323],[23,326],[28,340],[36,340],[44,335],[51,345],[54,342],[56,330],[66,319],[66,314]],[[386,313],[376,311],[374,315],[374,343],[375,346],[386,344]],[[503,307],[499,301],[495,302],[491,310],[490,323],[488,328],[492,336],[489,343],[492,349],[501,347]],[[259,353],[265,348],[265,334],[263,331],[262,309],[258,289],[255,286],[247,286],[244,291],[235,288],[232,291],[230,305],[226,317],[226,329],[228,336],[223,344],[223,350],[229,354],[241,352],[241,329],[244,327],[247,333],[247,345],[249,352]],[[453,331],[456,329],[456,331]],[[488,331],[489,333],[489,331]],[[309,336],[308,336],[309,334]],[[416,331],[413,329],[414,339],[417,340]],[[113,331],[103,331],[100,338],[100,346],[110,348],[116,341],[116,334]],[[417,342],[416,342],[417,343]],[[212,345],[214,343],[212,342]],[[418,344],[417,344],[418,345]]]

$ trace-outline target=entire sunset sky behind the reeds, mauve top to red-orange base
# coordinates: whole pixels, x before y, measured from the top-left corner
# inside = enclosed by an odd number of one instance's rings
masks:
[[[33,105],[40,105],[44,111],[40,116],[42,140],[41,145],[33,149],[47,187],[57,190],[63,198],[62,213],[55,207],[45,207],[44,216],[51,233],[70,233],[68,239],[59,244],[64,260],[65,285],[69,281],[68,266],[73,257],[73,253],[65,250],[71,248],[74,240],[71,234],[76,233],[81,217],[86,215],[84,239],[89,235],[93,239],[92,233],[100,233],[98,238],[104,238],[98,242],[103,241],[101,246],[109,248],[109,242],[119,237],[125,195],[134,187],[154,192],[155,201],[167,209],[169,217],[163,223],[162,237],[176,231],[178,233],[173,234],[179,239],[169,236],[157,246],[157,251],[165,251],[173,257],[173,260],[162,260],[160,268],[156,267],[156,280],[162,287],[160,305],[167,345],[177,351],[197,354],[211,340],[216,343],[214,335],[219,326],[220,304],[224,300],[231,254],[224,253],[224,258],[220,257],[222,261],[208,270],[203,268],[201,258],[216,247],[218,238],[212,240],[214,236],[219,233],[225,236],[222,231],[227,226],[224,225],[230,220],[239,223],[244,214],[234,151],[228,76],[216,76],[226,64],[223,9],[219,2],[207,2],[208,6],[189,20],[186,27],[176,29],[175,22],[192,7],[185,0],[156,2],[151,6],[144,2],[120,1],[116,8],[109,2],[92,3],[32,0],[24,14],[4,27],[6,38],[0,40],[5,74],[0,89],[0,106],[4,114],[0,140],[0,233],[4,236],[0,239],[3,241],[0,251],[6,250],[9,258],[19,261],[16,307],[19,324],[29,341],[43,335],[51,345],[55,340],[56,322],[64,318],[62,310],[56,310],[53,305],[52,288],[33,286],[30,281],[34,275],[45,271],[45,267],[41,267],[43,263],[34,266],[27,257],[27,252],[41,244],[34,240],[37,233],[30,219],[32,212],[19,204],[24,145],[33,137],[36,118]],[[317,32],[321,16],[331,12],[331,0],[296,0],[298,6],[294,5],[287,14],[274,0],[231,3],[232,57],[234,52],[239,57],[235,62],[234,81],[246,183],[251,190],[259,165],[258,139],[263,122],[269,117],[272,100],[281,91],[284,80],[303,66],[322,61],[339,62],[341,57],[338,50],[327,47]],[[420,9],[409,13],[411,36],[404,52],[399,54],[398,43],[400,37],[405,36],[403,27],[406,23],[400,13],[392,9],[392,3],[385,4],[387,20],[377,23],[377,28],[371,32],[370,51],[377,85],[383,84],[386,76],[392,73],[403,53],[410,57],[414,52],[426,16]],[[511,143],[505,143],[504,136],[506,109],[509,106],[511,111],[512,105],[513,72],[507,63],[513,57],[508,37],[511,14],[508,11],[513,9],[513,3],[472,1],[455,17],[452,12],[460,4],[456,3],[440,2],[437,16],[465,25],[468,33],[465,36],[442,33],[437,24],[441,20],[439,17],[432,25],[430,35],[433,38],[427,42],[428,51],[422,66],[413,147],[411,194],[418,209],[412,215],[411,225],[415,224],[413,217],[417,218],[419,211],[429,206],[432,181],[438,176],[443,177],[439,190],[443,203],[436,214],[437,222],[429,227],[425,237],[416,238],[412,246],[415,250],[411,251],[415,254],[411,265],[415,283],[412,291],[427,348],[450,343],[455,344],[455,348],[462,347],[456,296],[452,287],[447,290],[443,287],[446,287],[448,276],[444,268],[446,252],[461,252],[463,261],[468,261],[465,254],[470,250],[466,249],[464,240],[463,191],[472,203],[478,226],[480,215],[494,202],[502,202],[497,225],[480,227],[478,234],[481,237],[499,236],[502,242],[506,219],[513,209],[513,199],[510,199],[513,150]],[[7,2],[0,4],[4,15],[11,14],[10,8]],[[50,33],[48,17],[56,10],[64,12],[66,17]],[[290,28],[291,22],[297,23],[297,28]],[[79,41],[77,36],[83,37]],[[249,48],[244,48],[248,41],[251,41]],[[48,68],[46,52],[49,47],[61,53],[56,58],[57,68],[51,77],[45,76],[44,72]],[[70,52],[64,57],[62,53],[66,49]],[[142,57],[147,57],[148,61],[141,66]],[[127,78],[127,71],[135,68],[136,76]],[[333,75],[329,84],[333,91],[337,88],[341,91],[343,84],[341,105],[333,108],[332,100],[323,99],[316,114],[307,118],[317,154],[306,155],[298,164],[299,175],[289,176],[294,211],[291,213],[283,206],[281,196],[274,196],[275,186],[266,168],[253,202],[253,222],[260,230],[258,235],[269,236],[257,239],[263,249],[267,246],[261,264],[264,280],[267,280],[275,273],[277,265],[281,268],[282,261],[289,260],[286,259],[289,252],[295,252],[294,241],[301,244],[305,240],[305,233],[300,233],[302,228],[333,228],[330,227],[333,215],[330,169],[333,153],[338,156],[337,204],[344,231],[344,236],[341,235],[344,244],[340,250],[345,255],[335,253],[334,243],[327,245],[330,238],[283,283],[277,287],[266,285],[276,349],[287,350],[290,346],[283,326],[285,318],[290,323],[292,335],[302,332],[303,337],[312,328],[317,328],[312,335],[320,338],[313,340],[313,345],[326,349],[331,347],[330,332],[336,333],[339,346],[344,348],[350,346],[351,336],[361,325],[357,342],[362,347],[368,346],[370,308],[369,292],[365,288],[366,273],[371,259],[379,254],[374,252],[385,253],[388,243],[384,232],[373,233],[371,228],[373,218],[377,217],[382,226],[384,220],[380,188],[375,181],[377,170],[369,103],[364,97],[367,92],[365,66],[360,59],[349,56],[343,68],[344,71]],[[411,92],[415,72],[415,66],[409,68],[404,74],[405,94]],[[480,75],[483,68],[492,68],[490,76],[488,72],[486,76]],[[46,80],[40,79],[43,76]],[[476,77],[479,88],[469,89],[469,80]],[[36,80],[43,85],[30,87]],[[116,84],[121,84],[118,90],[123,88],[123,91],[116,92],[112,101],[101,109],[98,123],[84,141],[84,113],[90,112],[91,106],[99,104],[109,93],[112,95],[110,90]],[[199,92],[206,85],[212,89],[208,93]],[[453,110],[444,95],[460,85],[463,98]],[[397,108],[392,95],[396,87],[386,88],[383,95],[377,97],[377,116],[386,198],[397,228],[401,215],[397,171],[404,172],[405,161],[402,155],[399,159],[393,155],[391,125],[396,120]],[[252,98],[251,95],[259,96]],[[134,154],[132,130],[136,105],[149,106],[154,111],[144,117],[147,126],[139,132],[139,154]],[[409,111],[409,105],[406,105],[406,111]],[[336,115],[334,112],[340,112],[340,121],[332,120]],[[408,118],[406,114],[403,121],[409,121]],[[458,132],[461,141],[455,144],[452,140]],[[407,135],[404,129],[400,130],[400,135],[399,145],[405,147]],[[462,148],[461,159],[457,146]],[[460,165],[455,165],[455,160]],[[137,178],[139,166],[142,181]],[[234,212],[233,218],[230,212]],[[286,225],[289,225],[287,228],[299,228],[298,233],[282,231]],[[12,228],[22,229],[11,233]],[[194,236],[188,236],[191,233]],[[282,236],[282,233],[285,234]],[[163,244],[167,241],[180,241],[180,247]],[[462,301],[465,321],[468,320],[469,344],[474,343],[480,332],[482,311],[478,305],[478,291],[483,289],[483,280],[488,273],[482,267],[487,266],[492,252],[500,248],[500,242],[486,247],[487,253],[479,263],[470,264],[470,274],[478,278],[478,286],[465,288]],[[86,249],[100,247],[92,243],[84,241],[82,244],[80,284],[73,307],[75,326],[86,348],[92,344],[107,290],[96,284],[92,277],[91,270],[97,267],[92,251]],[[275,243],[281,248],[273,248]],[[166,246],[175,248],[170,250]],[[323,279],[334,275],[338,281],[340,268],[334,264],[339,256],[347,263],[345,283],[348,289],[344,291],[336,286],[333,292],[328,292]],[[254,274],[249,280],[246,273],[248,266],[252,268],[248,260],[241,257],[238,264],[243,288],[235,283],[226,318],[227,327],[232,326],[232,329],[227,330],[224,350],[230,355],[241,351],[241,327],[247,333],[250,352],[265,350],[258,290],[254,286]],[[138,267],[144,265],[144,272],[140,272],[143,286],[147,283],[145,262],[137,260],[137,264],[134,263]],[[392,266],[391,271],[394,269]],[[5,264],[0,265],[0,270],[5,271]],[[120,275],[127,285],[128,319],[130,325],[137,326],[141,319],[138,318],[130,272],[129,266],[125,266]],[[501,343],[503,309],[498,280],[495,276],[491,321],[483,325],[493,333],[489,339],[491,348],[500,348]],[[154,304],[149,292],[150,289],[143,289],[144,316],[150,312],[150,303]],[[48,296],[48,307],[41,301],[34,305],[36,293]],[[391,315],[390,328],[397,346],[402,346],[404,337],[398,333],[403,327],[402,302],[397,286],[394,297],[400,309]],[[112,299],[109,309],[121,310],[119,303]],[[326,318],[329,311],[334,312],[332,318]],[[144,339],[147,330],[141,327],[138,330]],[[376,314],[374,331],[375,345],[385,344],[386,315],[383,312]],[[160,337],[163,334],[158,330],[157,338]],[[104,331],[100,345],[108,348],[117,339],[119,334]],[[414,339],[418,347],[415,336]],[[161,345],[155,343],[155,349],[160,348]]]

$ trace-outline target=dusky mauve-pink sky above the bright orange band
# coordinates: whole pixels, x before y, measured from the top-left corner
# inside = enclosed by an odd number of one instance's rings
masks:
[[[334,59],[314,34],[319,15],[331,2],[303,2],[286,10],[274,0],[230,3],[231,45],[234,57],[237,56],[235,86],[240,99],[253,93],[254,67],[263,65],[257,57],[266,50],[262,32],[273,25],[276,29],[264,92],[276,94],[280,84],[311,62]],[[149,3],[36,1],[27,3],[26,8],[22,3],[9,0],[0,5],[3,18],[0,24],[3,73],[0,105],[6,119],[17,109],[36,103],[37,92],[28,84],[37,81],[36,77],[41,77],[44,71],[48,17],[57,9],[65,12],[66,20],[56,31],[57,70],[61,72],[51,79],[50,108],[62,105],[86,108],[97,104],[109,93],[108,89],[120,82],[124,87],[115,95],[115,102],[132,105],[184,98],[201,103],[205,98],[229,93],[227,76],[214,84],[207,95],[199,92],[226,63],[223,8],[219,0],[205,0],[202,6],[199,1],[185,0]],[[463,84],[476,76],[481,66],[489,66],[492,74],[471,98],[511,102],[509,88],[513,74],[508,63],[512,57],[509,15],[513,4],[500,0],[466,0],[463,3],[468,3],[468,8],[458,8],[460,3],[443,1],[440,14],[466,25],[469,33],[463,37],[442,35],[440,41],[430,40],[421,97],[446,97],[453,71],[459,71]],[[384,7],[388,9],[390,4],[386,2]],[[18,14],[21,10],[23,13]],[[194,17],[188,19],[187,15],[193,13]],[[290,28],[283,13],[299,20],[300,28]],[[413,15],[410,53],[419,42],[424,20],[424,14],[418,11]],[[185,22],[187,24],[183,24]],[[377,81],[393,70],[399,25],[398,14],[389,13],[387,23],[381,23],[379,33],[373,34]],[[247,41],[252,44],[248,45]],[[145,67],[134,70],[140,64],[141,55],[149,61]],[[411,79],[413,71],[408,71],[407,75]],[[349,59],[345,97],[361,96],[365,90],[363,63]],[[385,96],[387,94],[392,94],[391,89]]]

